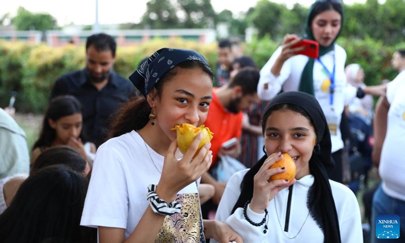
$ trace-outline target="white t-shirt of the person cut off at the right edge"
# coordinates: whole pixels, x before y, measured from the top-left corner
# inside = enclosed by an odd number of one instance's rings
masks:
[[[384,192],[405,201],[405,70],[401,71],[387,86],[390,103],[387,117],[387,132],[381,150],[378,172]]]

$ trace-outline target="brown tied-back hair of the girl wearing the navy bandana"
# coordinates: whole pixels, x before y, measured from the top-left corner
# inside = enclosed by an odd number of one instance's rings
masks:
[[[165,85],[177,75],[179,69],[200,69],[214,79],[214,73],[211,68],[200,61],[186,61],[178,64],[176,67],[165,73],[159,82],[154,86],[156,95],[160,98]],[[146,98],[142,95],[132,97],[127,103],[121,106],[113,116],[110,123],[110,134],[108,138],[114,138],[133,130],[139,130],[146,126],[149,121],[151,107]]]

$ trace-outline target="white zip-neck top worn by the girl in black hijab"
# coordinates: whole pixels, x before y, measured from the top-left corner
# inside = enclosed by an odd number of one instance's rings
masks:
[[[256,227],[251,225],[245,219],[242,208],[236,209],[236,211],[229,216],[240,195],[240,183],[248,171],[249,169],[239,171],[231,177],[226,185],[215,219],[227,223],[233,230],[240,234],[242,238],[244,238],[244,242],[320,243],[324,241],[321,229],[311,215],[308,216],[309,210],[306,202],[309,187],[314,181],[312,175],[297,180],[293,186],[288,232],[284,231],[284,226],[286,222],[289,188],[285,188],[278,192],[274,199],[270,201],[269,206],[267,207],[269,219],[266,234],[263,233],[264,225]],[[356,196],[343,184],[332,180],[329,180],[329,182],[331,184],[336,211],[338,213],[342,242],[363,242],[360,209]],[[257,223],[261,222],[265,215],[264,213],[257,214],[253,212],[250,210],[249,206],[247,214],[253,222]],[[298,236],[295,237],[297,234]]]

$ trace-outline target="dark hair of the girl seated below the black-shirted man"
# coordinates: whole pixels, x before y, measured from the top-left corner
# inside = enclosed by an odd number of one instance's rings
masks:
[[[38,140],[32,146],[32,149],[37,147],[50,147],[56,138],[55,129],[49,125],[49,119],[57,121],[63,116],[72,115],[74,113],[82,114],[82,105],[80,102],[71,95],[57,96],[51,100],[47,112],[45,113],[41,134]],[[87,141],[85,132],[80,133],[80,139],[85,143]]]

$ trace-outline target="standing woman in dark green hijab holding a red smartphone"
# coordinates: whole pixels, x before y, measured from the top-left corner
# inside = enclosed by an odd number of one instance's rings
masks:
[[[258,95],[270,100],[281,90],[314,95],[325,113],[336,162],[330,177],[342,182],[344,142],[340,129],[344,106],[356,97],[356,88],[346,84],[346,51],[335,43],[342,28],[343,6],[338,0],[316,1],[308,11],[305,39],[319,44],[317,58],[309,58],[308,45],[295,34],[286,34],[281,46],[260,71]],[[299,47],[297,47],[299,46]],[[306,55],[302,55],[306,54]]]

